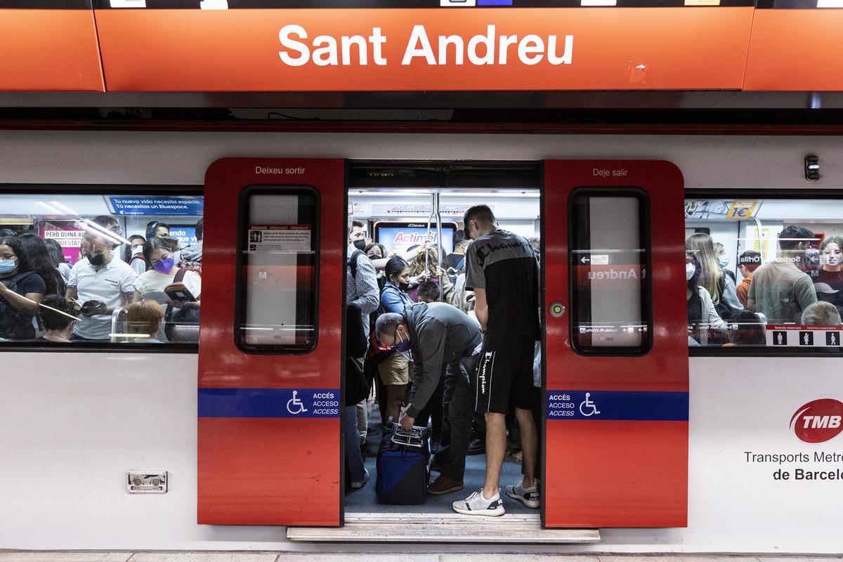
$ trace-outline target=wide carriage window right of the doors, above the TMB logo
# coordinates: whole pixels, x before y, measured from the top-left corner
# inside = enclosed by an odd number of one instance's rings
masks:
[[[843,200],[685,200],[690,345],[839,352]]]

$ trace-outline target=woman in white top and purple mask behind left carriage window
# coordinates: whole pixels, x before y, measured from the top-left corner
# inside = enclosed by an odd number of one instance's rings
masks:
[[[202,291],[202,279],[195,271],[185,270],[181,282],[196,299],[195,302],[174,301],[164,294],[164,289],[175,282],[180,269],[175,265],[175,258],[169,244],[163,238],[152,238],[143,244],[143,256],[146,258],[150,270],[137,278],[137,294],[135,300],[152,298],[161,304],[175,308],[199,308],[199,297]],[[156,294],[153,294],[156,293]]]

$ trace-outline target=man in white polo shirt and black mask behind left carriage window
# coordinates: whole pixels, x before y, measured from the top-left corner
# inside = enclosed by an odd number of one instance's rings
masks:
[[[90,228],[82,239],[79,260],[70,272],[65,297],[82,304],[79,321],[73,326],[74,340],[110,339],[111,313],[132,302],[137,274],[114,253],[122,239],[112,230]]]

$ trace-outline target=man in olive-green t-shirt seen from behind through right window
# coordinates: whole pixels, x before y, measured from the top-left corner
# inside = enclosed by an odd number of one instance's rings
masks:
[[[747,308],[767,317],[767,324],[797,321],[809,304],[817,302],[811,277],[813,232],[795,224],[779,233],[780,255],[755,270],[747,293]]]

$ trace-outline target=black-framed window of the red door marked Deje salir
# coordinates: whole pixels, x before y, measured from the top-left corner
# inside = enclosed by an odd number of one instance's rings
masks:
[[[571,195],[572,345],[586,354],[650,347],[647,195],[581,188]]]

